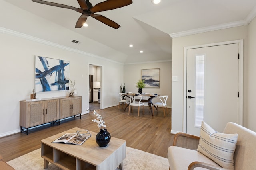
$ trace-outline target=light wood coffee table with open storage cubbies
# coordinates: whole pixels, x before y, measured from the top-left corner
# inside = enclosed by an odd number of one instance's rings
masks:
[[[73,133],[80,128],[53,135],[41,141],[41,157],[44,158],[44,169],[49,162],[64,170],[115,170],[123,169],[122,161],[126,157],[126,141],[111,137],[106,147],[99,147],[95,141],[97,133],[89,131],[92,136],[82,145],[52,143],[65,133]]]

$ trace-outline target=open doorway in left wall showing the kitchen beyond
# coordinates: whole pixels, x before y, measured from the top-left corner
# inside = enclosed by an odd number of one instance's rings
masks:
[[[89,109],[99,110],[102,106],[102,66],[89,64]]]

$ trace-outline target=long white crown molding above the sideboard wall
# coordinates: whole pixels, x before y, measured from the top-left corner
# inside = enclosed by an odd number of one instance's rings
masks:
[[[42,44],[45,44],[45,45],[50,45],[52,47],[57,47],[57,48],[60,48],[60,49],[72,51],[72,52],[75,52],[75,53],[86,55],[88,57],[94,57],[94,58],[98,58],[98,59],[101,59],[101,60],[110,61],[110,62],[113,62],[113,63],[124,64],[124,63],[120,63],[120,62],[117,62],[117,61],[114,61],[114,60],[106,59],[104,57],[100,57],[98,55],[94,55],[94,54],[91,54],[91,53],[86,53],[86,52],[81,51],[81,50],[73,49],[73,48],[70,48],[70,47],[66,47],[64,45],[60,45],[60,44],[53,43],[53,42],[50,42],[50,41],[47,41],[47,40],[44,40],[44,39],[33,37],[33,36],[30,36],[30,35],[27,35],[27,34],[24,34],[24,33],[20,33],[20,32],[17,32],[17,31],[10,30],[10,29],[6,29],[6,28],[3,28],[3,27],[0,27],[0,32],[10,34],[10,35],[14,35],[16,37],[22,37],[24,39],[28,39],[28,40],[31,40],[31,41],[36,41],[38,43],[42,43]]]

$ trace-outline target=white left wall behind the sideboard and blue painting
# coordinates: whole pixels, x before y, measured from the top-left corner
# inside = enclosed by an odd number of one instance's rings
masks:
[[[0,32],[1,58],[1,112],[0,136],[18,132],[19,101],[30,98],[34,89],[34,55],[62,59],[70,62],[70,79],[76,81],[78,95],[82,96],[82,113],[88,106],[88,64],[96,63],[102,66],[102,89],[104,91],[103,108],[117,104],[123,83],[123,64],[91,57],[82,53],[52,47],[37,41],[32,41],[16,35]],[[64,92],[37,92],[37,98],[67,96]]]

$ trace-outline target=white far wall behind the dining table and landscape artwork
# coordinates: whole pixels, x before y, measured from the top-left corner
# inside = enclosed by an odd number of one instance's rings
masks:
[[[141,79],[141,70],[152,69],[152,68],[160,68],[160,88],[144,88],[143,92],[168,95],[169,98],[167,100],[167,106],[171,108],[172,106],[171,105],[172,104],[172,99],[171,99],[172,61],[166,61],[162,63],[124,65],[124,83],[125,83],[126,92],[138,93],[138,88],[136,88],[136,82],[138,82],[138,80]]]

